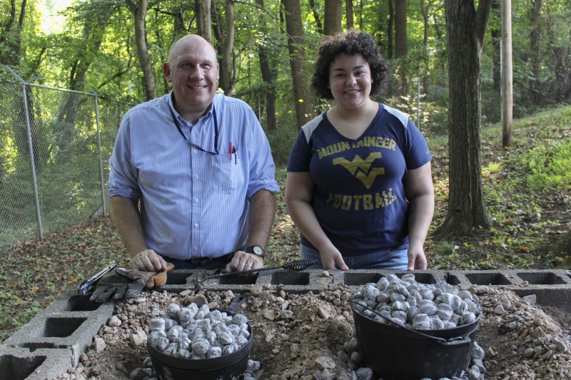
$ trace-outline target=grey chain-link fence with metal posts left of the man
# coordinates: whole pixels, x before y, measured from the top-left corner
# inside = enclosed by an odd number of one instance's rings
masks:
[[[107,208],[107,161],[126,105],[0,83],[0,255]]]

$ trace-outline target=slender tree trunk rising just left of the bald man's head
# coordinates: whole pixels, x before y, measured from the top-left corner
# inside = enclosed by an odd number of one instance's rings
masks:
[[[143,71],[143,84],[145,86],[146,100],[156,98],[155,76],[151,57],[148,56],[148,48],[145,34],[145,16],[147,14],[147,0],[139,0],[135,4],[133,0],[125,0],[129,10],[135,18],[135,43],[137,45],[138,61]]]

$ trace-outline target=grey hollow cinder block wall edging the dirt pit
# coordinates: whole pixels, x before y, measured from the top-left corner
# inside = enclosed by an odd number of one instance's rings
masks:
[[[378,282],[388,274],[402,276],[395,270],[328,271],[320,269],[301,272],[283,269],[258,272],[255,276],[224,276],[201,281],[201,270],[173,269],[163,287],[178,293],[205,289],[248,293],[253,286],[271,290],[279,285],[291,294],[314,293],[339,284],[359,287]],[[558,307],[571,313],[571,271],[567,270],[484,270],[484,271],[415,271],[415,279],[423,284],[440,281],[463,289],[490,285],[512,289],[520,297],[535,294],[537,304]],[[98,330],[113,315],[113,304],[94,304],[89,297],[68,292],[0,344],[0,380],[39,380],[59,376],[76,366],[81,353],[93,343]]]

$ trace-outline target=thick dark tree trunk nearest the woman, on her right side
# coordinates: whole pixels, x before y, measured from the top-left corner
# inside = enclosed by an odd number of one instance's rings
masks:
[[[445,2],[448,36],[450,195],[448,215],[435,240],[489,228],[480,157],[480,54],[491,0]]]

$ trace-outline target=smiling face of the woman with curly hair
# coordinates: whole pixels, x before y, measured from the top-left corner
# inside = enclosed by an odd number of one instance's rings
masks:
[[[369,64],[360,54],[341,53],[329,66],[328,88],[340,106],[355,108],[368,101],[371,83]]]

